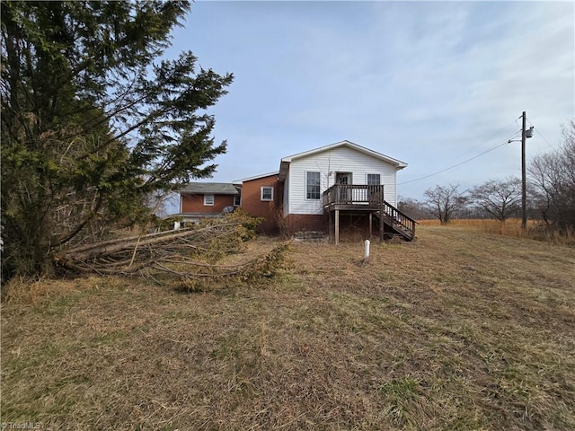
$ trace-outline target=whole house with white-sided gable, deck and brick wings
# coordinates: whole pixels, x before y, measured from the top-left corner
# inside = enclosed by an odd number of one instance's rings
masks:
[[[387,155],[341,141],[284,157],[278,172],[217,187],[230,192],[241,189],[241,207],[265,219],[263,233],[329,232],[338,242],[343,228],[364,231],[364,236],[399,235],[411,241],[415,222],[395,207],[397,172],[406,166]],[[194,183],[182,190],[182,213],[184,194],[199,190],[199,184],[213,190],[215,183]]]

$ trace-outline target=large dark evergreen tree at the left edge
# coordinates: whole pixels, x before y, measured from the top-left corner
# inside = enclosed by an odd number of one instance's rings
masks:
[[[207,109],[233,75],[162,60],[189,2],[2,2],[3,277],[146,216],[214,172]]]

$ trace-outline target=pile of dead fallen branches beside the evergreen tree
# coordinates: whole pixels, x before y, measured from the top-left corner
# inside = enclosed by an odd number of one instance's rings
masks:
[[[248,279],[270,273],[287,244],[236,265],[213,263],[238,251],[245,239],[242,223],[219,222],[177,231],[148,233],[75,247],[55,258],[66,272],[101,275],[140,274],[145,277],[175,276],[185,280],[236,276]]]

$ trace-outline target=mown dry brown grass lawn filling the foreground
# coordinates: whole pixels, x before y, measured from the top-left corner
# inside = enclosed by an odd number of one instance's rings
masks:
[[[575,429],[574,248],[426,225],[362,257],[360,242],[294,242],[279,277],[199,293],[119,277],[13,283],[1,421]]]

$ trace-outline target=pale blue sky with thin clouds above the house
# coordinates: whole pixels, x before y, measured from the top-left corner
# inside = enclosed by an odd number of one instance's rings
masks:
[[[343,139],[408,163],[398,193],[520,175],[575,117],[573,2],[206,2],[173,33],[175,57],[232,72],[209,110],[227,140],[214,181],[279,169]]]

